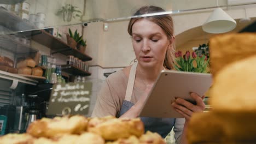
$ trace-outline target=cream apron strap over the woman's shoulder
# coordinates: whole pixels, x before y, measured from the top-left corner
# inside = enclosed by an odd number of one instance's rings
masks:
[[[138,62],[134,63],[131,67],[131,70],[130,70],[129,79],[128,79],[128,83],[127,83],[127,88],[126,88],[126,93],[125,93],[125,100],[126,101],[131,101],[137,64],[138,64]]]

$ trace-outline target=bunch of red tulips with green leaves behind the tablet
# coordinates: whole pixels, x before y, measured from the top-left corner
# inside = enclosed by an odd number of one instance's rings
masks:
[[[178,51],[175,53],[176,63],[174,63],[174,68],[178,71],[190,71],[195,73],[207,73],[207,65],[210,61],[205,55],[197,56],[195,52],[192,52],[192,57],[190,57],[190,52],[182,56],[182,52]],[[196,61],[196,66],[193,62]]]

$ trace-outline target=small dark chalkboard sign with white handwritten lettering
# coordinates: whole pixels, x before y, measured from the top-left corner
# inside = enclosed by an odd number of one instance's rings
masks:
[[[69,82],[54,85],[47,115],[86,115],[89,111],[91,87],[91,82]]]

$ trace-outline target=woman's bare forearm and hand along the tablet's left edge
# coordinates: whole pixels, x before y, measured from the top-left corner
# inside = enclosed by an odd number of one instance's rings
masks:
[[[147,87],[145,89],[145,93],[143,95],[141,95],[141,97],[139,98],[137,103],[135,105],[133,105],[130,110],[126,111],[123,115],[121,115],[120,118],[124,118],[124,117],[125,118],[136,118],[136,117],[138,117],[152,87],[153,87],[153,84],[147,85]]]

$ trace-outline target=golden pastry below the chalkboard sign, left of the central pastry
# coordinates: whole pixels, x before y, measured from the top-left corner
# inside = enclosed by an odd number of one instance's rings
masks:
[[[56,137],[64,134],[80,134],[86,130],[88,119],[84,116],[42,118],[31,123],[27,133],[34,137]]]

